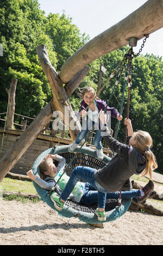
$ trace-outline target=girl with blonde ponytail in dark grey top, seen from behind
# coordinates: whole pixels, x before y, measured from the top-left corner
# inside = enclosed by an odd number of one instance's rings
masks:
[[[152,138],[149,133],[141,130],[133,133],[131,121],[126,119],[124,123],[128,129],[129,145],[122,144],[110,135],[109,129],[106,126],[104,112],[100,115],[100,119],[102,122],[101,129],[105,132],[105,142],[111,150],[117,153],[116,156],[100,170],[77,166],[73,170],[65,190],[61,193],[60,197],[57,193],[53,193],[51,198],[54,201],[54,206],[58,210],[62,210],[75,184],[79,178],[82,178],[98,190],[96,215],[99,221],[105,221],[104,208],[106,193],[116,192],[121,189],[130,190],[130,177],[133,174],[141,174],[142,176],[149,174],[151,180],[142,189],[141,197],[137,199],[139,202],[146,200],[154,188],[152,170],[157,168],[157,164],[155,156],[150,149]]]

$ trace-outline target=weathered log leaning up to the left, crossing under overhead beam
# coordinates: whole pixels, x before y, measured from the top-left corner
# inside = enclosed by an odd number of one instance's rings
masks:
[[[81,130],[80,122],[77,121],[76,115],[73,112],[70,102],[68,101],[67,94],[64,86],[62,85],[59,76],[52,66],[48,58],[47,48],[41,44],[37,47],[37,55],[39,57],[42,69],[47,76],[49,85],[51,86],[53,93],[53,103],[55,109],[58,111],[66,126],[70,127],[70,135],[72,140],[75,140]],[[76,127],[74,127],[74,122]]]

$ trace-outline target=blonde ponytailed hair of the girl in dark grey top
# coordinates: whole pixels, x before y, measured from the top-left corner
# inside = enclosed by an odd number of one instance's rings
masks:
[[[155,156],[150,149],[153,145],[152,137],[148,132],[138,130],[134,133],[134,139],[136,140],[136,145],[134,147],[137,151],[143,154],[143,156],[146,158],[147,163],[146,168],[141,173],[141,176],[149,174],[152,180],[152,171],[158,168]]]

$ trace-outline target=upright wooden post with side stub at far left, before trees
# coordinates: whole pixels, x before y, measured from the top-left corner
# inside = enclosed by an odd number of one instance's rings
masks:
[[[17,79],[11,79],[10,88],[5,88],[8,93],[8,111],[7,111],[7,129],[13,129],[14,127],[14,112],[15,112],[15,91],[16,91]]]

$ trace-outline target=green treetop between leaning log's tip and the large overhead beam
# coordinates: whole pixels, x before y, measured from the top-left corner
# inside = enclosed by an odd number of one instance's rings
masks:
[[[66,59],[89,39],[85,33],[80,33],[79,28],[72,24],[72,18],[66,17],[64,13],[61,16],[52,13],[47,16],[46,33],[53,40],[54,51],[57,52],[58,71]]]

